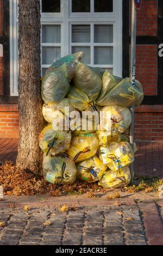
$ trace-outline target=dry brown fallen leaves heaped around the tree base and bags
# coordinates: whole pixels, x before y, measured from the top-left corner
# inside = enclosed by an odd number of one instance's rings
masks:
[[[52,197],[67,194],[84,194],[89,191],[104,191],[95,183],[76,180],[73,184],[53,185],[45,180],[43,174],[36,175],[30,170],[16,167],[8,161],[0,166],[0,185],[3,192],[14,196],[47,195]]]

